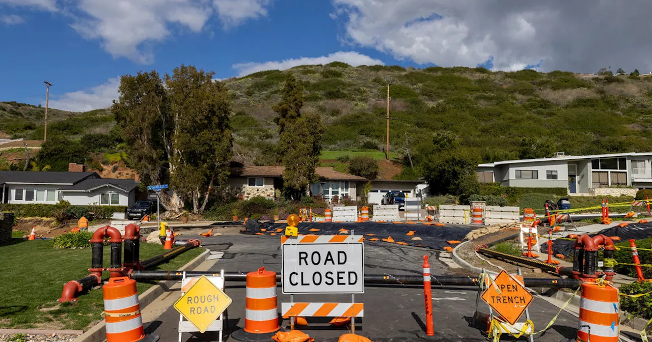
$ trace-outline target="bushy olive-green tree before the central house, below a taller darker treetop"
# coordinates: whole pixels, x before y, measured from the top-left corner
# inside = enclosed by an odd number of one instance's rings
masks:
[[[286,197],[300,199],[308,185],[318,180],[315,168],[319,163],[324,130],[319,115],[310,113],[288,122],[281,134],[278,147],[285,166]]]

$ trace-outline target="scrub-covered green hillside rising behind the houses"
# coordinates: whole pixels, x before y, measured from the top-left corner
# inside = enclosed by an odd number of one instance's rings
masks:
[[[233,98],[235,160],[274,163],[278,133],[271,107],[280,100],[289,72],[304,84],[303,111],[319,113],[327,125],[323,145],[329,151],[382,158],[387,83],[391,83],[392,156],[403,160],[409,150],[415,165],[419,158],[428,158],[428,147],[441,134],[456,137],[483,162],[556,151],[647,151],[652,142],[652,78],[462,67],[352,67],[335,62],[225,80]],[[40,139],[43,112],[39,107],[0,103],[0,130]],[[48,117],[53,118],[48,136],[50,132],[72,138],[106,134],[115,124],[106,110],[53,109]],[[340,155],[327,152],[323,159],[333,161]]]

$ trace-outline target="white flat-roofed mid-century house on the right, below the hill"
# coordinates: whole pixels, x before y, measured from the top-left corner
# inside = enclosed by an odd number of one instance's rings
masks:
[[[480,164],[479,182],[502,186],[567,188],[569,194],[595,192],[598,188],[652,188],[652,152],[627,152],[552,158],[505,160]]]

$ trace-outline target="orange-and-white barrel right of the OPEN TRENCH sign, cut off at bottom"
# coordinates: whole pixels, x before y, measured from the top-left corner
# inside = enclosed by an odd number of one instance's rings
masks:
[[[618,290],[615,287],[583,283],[578,341],[617,342],[618,303]]]

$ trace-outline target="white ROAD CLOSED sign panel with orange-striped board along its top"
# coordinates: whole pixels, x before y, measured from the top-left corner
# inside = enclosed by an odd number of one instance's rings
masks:
[[[363,236],[282,236],[284,294],[364,293]]]

